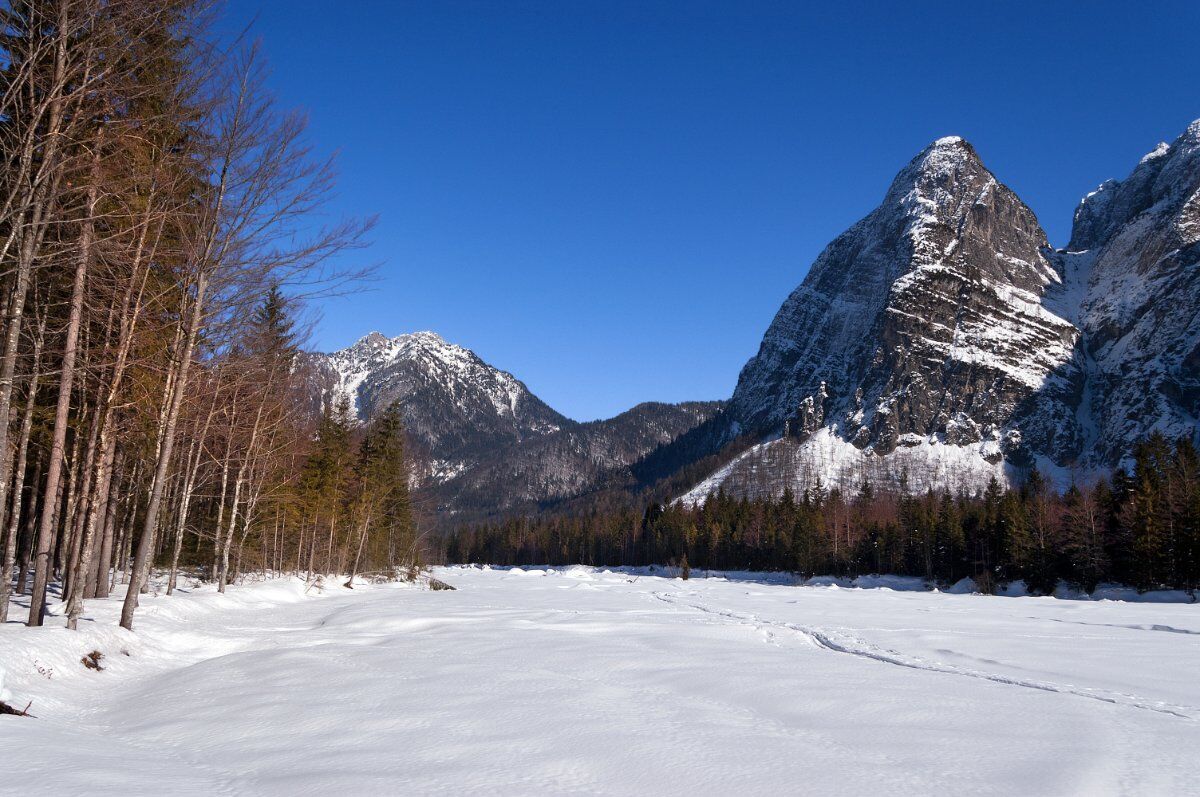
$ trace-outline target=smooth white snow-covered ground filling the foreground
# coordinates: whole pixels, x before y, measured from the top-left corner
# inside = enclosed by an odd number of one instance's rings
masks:
[[[1198,605],[438,575],[11,623],[0,793],[1200,793]]]

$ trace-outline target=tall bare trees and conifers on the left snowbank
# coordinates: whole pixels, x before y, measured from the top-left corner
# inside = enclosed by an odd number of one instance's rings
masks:
[[[413,558],[396,412],[317,411],[306,298],[370,221],[253,43],[190,0],[0,7],[0,622],[67,624],[151,567],[347,573]]]

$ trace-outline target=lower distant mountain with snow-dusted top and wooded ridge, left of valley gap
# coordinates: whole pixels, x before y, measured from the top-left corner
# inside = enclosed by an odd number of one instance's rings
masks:
[[[578,423],[520,379],[434,332],[371,332],[307,355],[316,401],[344,395],[360,420],[398,402],[418,481],[443,514],[479,515],[586,492],[708,420],[719,402],[644,403]]]

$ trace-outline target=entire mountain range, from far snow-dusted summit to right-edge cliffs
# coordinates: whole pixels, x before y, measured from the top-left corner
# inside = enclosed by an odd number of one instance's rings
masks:
[[[443,513],[598,490],[702,501],[1058,484],[1153,431],[1200,443],[1200,121],[1090,193],[1069,245],[956,137],[821,253],[733,397],[580,424],[432,332],[313,355],[318,395],[398,401]]]

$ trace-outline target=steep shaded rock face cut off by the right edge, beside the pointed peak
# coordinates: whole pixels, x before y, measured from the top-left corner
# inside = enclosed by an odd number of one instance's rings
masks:
[[[1080,413],[1097,462],[1200,427],[1200,120],[1075,212],[1063,260],[1082,289]]]

